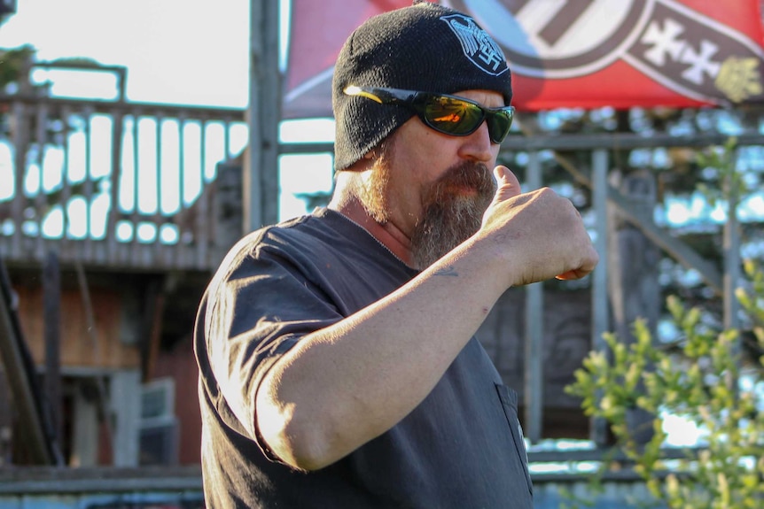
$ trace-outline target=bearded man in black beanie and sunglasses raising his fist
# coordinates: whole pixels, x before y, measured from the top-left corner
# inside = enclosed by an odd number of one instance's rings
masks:
[[[199,307],[207,507],[532,507],[517,395],[474,333],[503,292],[578,278],[573,205],[496,166],[510,71],[424,2],[351,35],[336,191],[247,235]]]

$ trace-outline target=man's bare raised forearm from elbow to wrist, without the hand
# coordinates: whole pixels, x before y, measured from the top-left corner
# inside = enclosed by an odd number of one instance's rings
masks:
[[[306,469],[331,464],[429,394],[507,287],[487,260],[465,256],[471,248],[279,360],[257,408],[261,433],[282,459]]]

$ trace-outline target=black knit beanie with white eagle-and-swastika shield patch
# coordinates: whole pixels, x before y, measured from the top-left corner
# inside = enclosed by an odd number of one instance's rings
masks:
[[[399,105],[347,96],[343,90],[350,85],[440,94],[487,89],[501,93],[504,104],[512,98],[499,45],[471,17],[427,2],[368,19],[339,51],[331,100],[336,171],[363,158],[413,116]]]

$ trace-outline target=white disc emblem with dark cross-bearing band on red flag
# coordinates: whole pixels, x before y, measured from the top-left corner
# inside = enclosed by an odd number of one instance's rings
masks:
[[[676,0],[442,0],[503,48],[512,73],[567,79],[627,62],[700,101],[764,98],[764,50]]]

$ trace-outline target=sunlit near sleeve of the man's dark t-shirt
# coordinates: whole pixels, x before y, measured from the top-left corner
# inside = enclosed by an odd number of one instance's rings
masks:
[[[207,292],[207,352],[223,400],[218,412],[230,411],[271,459],[255,428],[262,378],[300,338],[343,318],[306,272],[284,252],[259,247],[240,255]]]

